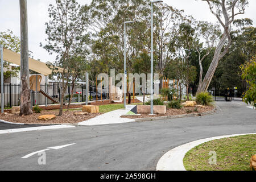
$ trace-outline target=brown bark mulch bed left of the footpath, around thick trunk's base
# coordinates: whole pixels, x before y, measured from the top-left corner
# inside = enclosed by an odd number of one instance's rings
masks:
[[[69,112],[63,112],[62,116],[59,115],[58,110],[43,110],[40,114],[32,114],[32,115],[26,115],[23,117],[19,117],[18,114],[7,114],[7,115],[0,115],[0,119],[4,121],[9,121],[13,123],[25,123],[25,124],[64,124],[64,123],[79,123],[82,121],[87,121],[88,119],[92,119],[96,117],[98,114],[88,114],[88,115],[79,115],[75,116],[74,113],[78,111],[69,111]],[[40,115],[47,115],[47,114],[55,114],[56,119],[53,119],[51,121],[40,121],[38,117]]]

